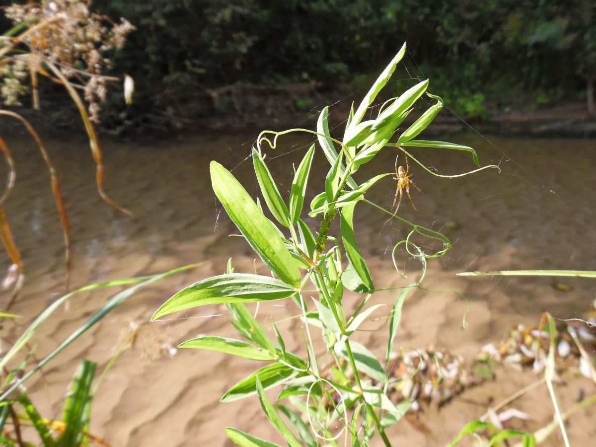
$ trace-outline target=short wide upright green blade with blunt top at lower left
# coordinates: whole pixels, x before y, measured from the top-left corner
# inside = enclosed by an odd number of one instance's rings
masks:
[[[64,433],[58,439],[59,447],[79,447],[82,441],[82,430],[88,423],[86,408],[91,405],[91,383],[95,375],[97,363],[83,360],[75,375],[69,397],[66,399],[62,421],[66,423]]]

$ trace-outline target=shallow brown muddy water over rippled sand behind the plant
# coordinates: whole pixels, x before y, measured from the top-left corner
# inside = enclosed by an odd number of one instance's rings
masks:
[[[224,427],[234,426],[281,442],[266,424],[256,399],[218,403],[230,386],[254,371],[254,362],[219,353],[172,349],[197,334],[237,337],[225,316],[220,315],[221,306],[191,309],[167,321],[148,323],[167,297],[185,285],[221,274],[229,257],[234,258],[237,271],[253,272],[256,268],[265,273],[260,263],[253,262],[254,255],[243,240],[228,237],[234,227],[225,213],[220,213],[209,181],[209,162],[218,160],[228,169],[233,168],[247,190],[256,194],[251,163],[246,160],[254,136],[219,134],[144,145],[106,142],[108,194],[128,207],[134,213],[132,218],[111,209],[98,197],[94,166],[85,142],[68,138],[48,141],[63,181],[73,229],[73,287],[152,274],[188,263],[201,264],[133,296],[48,365],[43,376],[29,383],[44,414],[56,414],[60,408],[81,358],[99,362],[101,370],[116,347],[134,331],[138,334],[134,348],[123,353],[95,398],[94,434],[113,446],[219,446],[229,445]],[[545,310],[561,318],[579,317],[594,299],[596,286],[588,280],[560,280],[572,287],[561,291],[552,287],[552,279],[462,278],[455,273],[595,269],[596,144],[591,140],[486,141],[479,137],[459,138],[457,142],[474,145],[480,162],[498,164],[501,173],[488,170],[442,179],[410,160],[409,173],[424,194],[412,190],[418,211],[405,198],[400,215],[406,221],[443,231],[454,243],[445,257],[430,260],[425,284],[432,290],[457,290],[469,297],[473,303],[469,325],[462,330],[467,303],[457,294],[417,290],[406,302],[398,342],[410,347],[433,344],[471,356],[483,344],[498,340],[511,324],[536,324]],[[267,151],[282,194],[287,196],[290,189],[291,163],[300,161],[310,143],[308,138],[290,138],[284,147]],[[27,279],[13,308],[23,318],[18,320],[18,327],[5,324],[3,339],[14,339],[64,288],[61,229],[44,164],[29,141],[12,141],[11,147],[17,164],[17,185],[6,211]],[[429,149],[417,150],[414,156],[440,173],[474,169],[471,157],[463,152]],[[399,161],[403,164],[404,160]],[[356,174],[356,180],[391,172],[394,163],[395,153],[381,152]],[[316,158],[309,199],[320,191],[320,177],[326,171],[325,160]],[[387,178],[367,198],[388,208],[394,194],[395,181]],[[387,222],[388,217],[364,204],[356,209],[356,237],[369,259],[377,288],[406,285],[421,274],[420,264],[403,253],[398,253],[397,263],[408,279],[396,274],[390,253],[410,227],[403,222]],[[307,223],[313,229],[317,226],[315,219]],[[427,253],[439,248],[428,240],[419,242]],[[1,259],[8,266],[4,255]],[[70,302],[68,310],[57,311],[33,340],[36,355],[41,357],[57,346],[111,293],[115,291],[82,294]],[[354,296],[344,299],[355,302]],[[392,303],[393,299],[395,293],[390,292],[373,298],[377,303]],[[287,349],[301,352],[300,322],[290,318],[297,315],[296,308],[286,303],[262,305],[258,315],[265,323],[280,321],[278,327]],[[379,312],[378,316],[382,315]],[[367,328],[375,327],[377,323],[370,322]],[[359,334],[359,340],[379,353],[383,352],[385,337],[382,331]],[[504,383],[466,393],[461,401],[448,407],[457,411],[424,415],[433,430],[430,437],[406,423],[393,427],[395,445],[399,441],[402,445],[444,445],[465,423],[483,414],[490,399],[499,401],[536,380],[532,374],[511,375],[504,371],[502,375]],[[573,386],[562,398],[566,408],[576,399],[579,388],[585,388],[586,393],[594,389],[589,382]],[[533,415],[523,428],[538,429],[552,417],[548,405],[536,405],[548,402],[545,393],[520,403],[520,409]],[[590,423],[593,417],[589,412],[579,415],[570,436],[576,440],[589,439],[582,436],[590,433],[596,436]]]

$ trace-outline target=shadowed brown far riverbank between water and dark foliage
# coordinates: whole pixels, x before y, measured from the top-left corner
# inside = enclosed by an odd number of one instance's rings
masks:
[[[193,135],[212,131],[250,132],[252,129],[275,131],[294,127],[315,129],[318,113],[331,105],[334,117],[347,116],[352,101],[358,101],[364,89],[354,91],[342,87],[327,89],[316,83],[285,86],[243,86],[234,84],[208,90],[192,101],[166,110],[142,110],[133,104],[119,113],[105,114],[97,126],[98,133],[117,138],[169,139],[172,136]],[[423,98],[424,99],[424,98]],[[430,101],[427,101],[430,105]],[[423,105],[424,107],[424,105]],[[477,117],[458,116],[443,108],[427,128],[427,134],[466,134],[468,132],[499,136],[533,136],[536,138],[596,137],[596,118],[590,117],[583,101],[554,104],[527,104],[519,108],[485,105],[486,113]],[[13,108],[46,135],[57,137],[83,134],[82,120],[76,107],[61,94],[42,96],[41,110]],[[414,122],[424,110],[415,110],[402,126]],[[342,123],[336,122],[338,128]],[[10,119],[0,120],[0,132],[24,134]]]

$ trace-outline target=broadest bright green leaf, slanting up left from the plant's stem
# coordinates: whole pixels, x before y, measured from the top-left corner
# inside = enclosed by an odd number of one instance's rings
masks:
[[[301,280],[300,271],[271,222],[224,166],[211,162],[210,170],[215,195],[253,250],[280,280],[298,287]]]

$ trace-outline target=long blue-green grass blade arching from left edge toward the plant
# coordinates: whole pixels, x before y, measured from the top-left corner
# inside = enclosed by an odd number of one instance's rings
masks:
[[[21,384],[23,384],[26,380],[29,380],[29,378],[37,373],[42,367],[44,367],[49,361],[51,361],[51,359],[53,359],[55,356],[57,356],[60,352],[62,352],[64,350],[64,348],[66,348],[67,346],[69,346],[70,343],[74,342],[77,338],[79,338],[81,336],[81,334],[85,333],[89,328],[91,328],[93,325],[95,325],[98,321],[100,321],[101,319],[104,318],[105,315],[107,315],[108,313],[110,313],[111,311],[113,311],[115,308],[117,308],[117,306],[119,306],[120,304],[122,304],[123,302],[125,302],[126,299],[128,299],[129,297],[131,297],[134,293],[136,293],[136,291],[140,290],[141,288],[149,285],[149,284],[153,284],[156,281],[160,281],[163,280],[163,278],[169,277],[171,275],[175,275],[176,273],[188,270],[190,268],[195,267],[196,265],[187,265],[184,267],[180,267],[177,269],[173,269],[170,270],[169,272],[165,272],[159,275],[153,275],[151,277],[147,277],[148,279],[143,281],[140,284],[134,285],[133,287],[129,287],[126,290],[121,291],[120,293],[117,293],[116,295],[114,295],[113,297],[111,297],[110,300],[108,300],[107,303],[105,303],[105,305],[103,305],[97,312],[94,313],[94,315],[91,316],[91,318],[89,318],[85,324],[83,324],[81,327],[79,327],[75,332],[73,332],[72,334],[70,334],[70,336],[64,340],[64,342],[62,342],[60,344],[60,346],[58,346],[52,353],[50,353],[48,356],[46,356],[45,359],[43,359],[41,362],[39,362],[35,368],[33,368],[31,371],[29,371],[29,373],[25,374],[23,376],[23,378],[21,378],[20,380],[18,380],[16,383],[13,384],[13,386],[11,386],[8,390],[5,390],[4,393],[2,393],[2,395],[0,396],[0,402],[4,402],[4,400],[15,390],[17,389]],[[136,278],[136,280],[138,280],[138,278]],[[128,284],[131,283],[132,280],[128,280]],[[120,283],[120,284],[126,284],[127,281],[111,281],[110,284],[114,285],[114,283]],[[107,284],[107,283],[104,283]],[[89,290],[91,290],[91,288],[94,288],[92,286],[88,286]],[[97,284],[95,284],[95,287],[97,287]],[[85,287],[83,287],[84,289]],[[82,291],[83,289],[79,289],[79,291]],[[55,304],[55,303],[54,303]],[[54,305],[52,304],[52,306]]]

